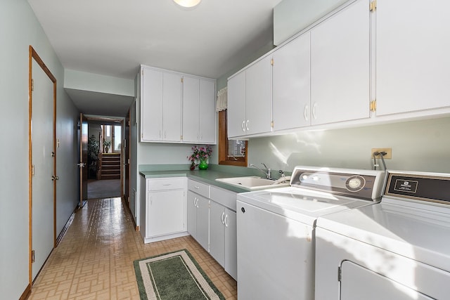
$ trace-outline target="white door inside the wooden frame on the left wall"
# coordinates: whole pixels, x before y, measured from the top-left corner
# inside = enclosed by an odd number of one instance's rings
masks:
[[[53,82],[32,60],[32,280],[54,247]],[[33,171],[32,171],[33,173]]]

